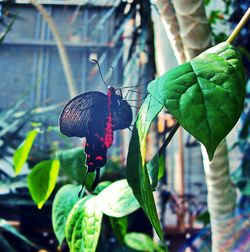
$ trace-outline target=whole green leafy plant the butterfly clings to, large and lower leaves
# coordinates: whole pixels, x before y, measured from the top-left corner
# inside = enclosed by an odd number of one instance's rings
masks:
[[[244,105],[245,78],[239,54],[230,44],[235,36],[233,33],[227,42],[210,48],[190,62],[149,83],[149,95],[137,115],[130,141],[128,182],[105,182],[105,185],[100,184],[91,192],[88,181],[92,178],[89,176],[83,198],[78,199],[79,179],[86,172],[85,157],[81,149],[58,153],[53,161],[41,163],[32,171],[29,175],[29,189],[39,208],[55,186],[58,161],[71,180],[77,183],[62,187],[53,202],[52,221],[60,245],[66,238],[71,252],[95,251],[103,215],[107,215],[112,218],[111,223],[118,240],[131,247],[131,240],[135,241],[135,238],[126,234],[126,216],[140,206],[164,244],[152,193],[160,173],[159,157],[181,125],[204,144],[211,160],[217,145],[237,122]],[[164,107],[173,114],[178,123],[163,147],[146,163],[147,132]],[[55,172],[52,171],[53,167]],[[41,178],[45,184],[42,187],[38,183]],[[151,244],[148,246],[155,246],[144,235],[137,236],[136,239],[146,239],[145,243]],[[138,240],[134,244],[138,244]],[[136,245],[133,248],[138,249]]]

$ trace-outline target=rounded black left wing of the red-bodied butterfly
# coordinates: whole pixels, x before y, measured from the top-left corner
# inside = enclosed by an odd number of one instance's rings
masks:
[[[107,113],[107,95],[97,91],[80,94],[64,107],[59,118],[60,131],[68,137],[102,132]]]

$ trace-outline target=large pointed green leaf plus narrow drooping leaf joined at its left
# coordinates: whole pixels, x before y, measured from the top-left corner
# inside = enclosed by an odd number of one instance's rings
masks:
[[[129,146],[127,179],[146,215],[163,240],[146,169],[146,135],[163,106],[199,141],[210,160],[233,128],[244,104],[244,70],[235,48],[213,47],[148,86],[149,95],[136,120]],[[226,123],[220,123],[223,120]]]

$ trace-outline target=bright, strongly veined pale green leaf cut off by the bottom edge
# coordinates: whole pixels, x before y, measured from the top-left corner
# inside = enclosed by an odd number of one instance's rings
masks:
[[[95,196],[86,196],[75,204],[68,216],[65,229],[70,252],[96,250],[102,216],[102,212],[96,206]]]

